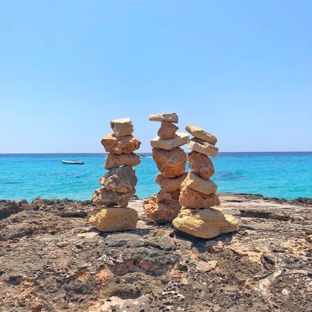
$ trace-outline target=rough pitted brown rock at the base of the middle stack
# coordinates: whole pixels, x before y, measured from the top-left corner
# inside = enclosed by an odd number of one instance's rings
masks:
[[[160,190],[157,195],[146,198],[143,202],[147,217],[158,223],[171,222],[181,209],[178,199],[172,194]]]

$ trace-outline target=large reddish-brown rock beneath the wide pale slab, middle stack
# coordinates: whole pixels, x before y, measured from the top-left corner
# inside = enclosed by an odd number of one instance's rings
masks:
[[[185,172],[186,154],[181,148],[171,151],[152,149],[156,166],[165,178],[181,175]]]

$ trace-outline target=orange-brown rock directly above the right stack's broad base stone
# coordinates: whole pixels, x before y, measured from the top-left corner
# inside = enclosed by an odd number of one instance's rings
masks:
[[[220,200],[216,194],[206,195],[197,192],[183,181],[180,188],[179,204],[188,208],[209,208],[220,206]]]

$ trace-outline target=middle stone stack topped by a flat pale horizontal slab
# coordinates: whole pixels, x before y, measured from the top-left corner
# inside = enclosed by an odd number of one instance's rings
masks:
[[[143,202],[149,219],[155,222],[172,222],[181,209],[178,199],[180,186],[186,177],[186,154],[180,146],[187,144],[189,136],[176,132],[178,117],[175,113],[150,115],[150,121],[161,122],[157,137],[151,141],[152,156],[160,173],[155,181],[161,190]]]

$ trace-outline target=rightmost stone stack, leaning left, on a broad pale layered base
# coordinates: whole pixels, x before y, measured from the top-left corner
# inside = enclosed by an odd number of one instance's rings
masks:
[[[220,205],[220,200],[215,194],[217,185],[210,180],[214,166],[208,156],[217,156],[217,139],[191,125],[185,130],[194,136],[187,146],[192,150],[187,156],[192,170],[181,183],[179,204],[183,207],[172,223],[176,229],[202,238],[235,231],[237,220],[225,214],[223,209],[214,207]]]

